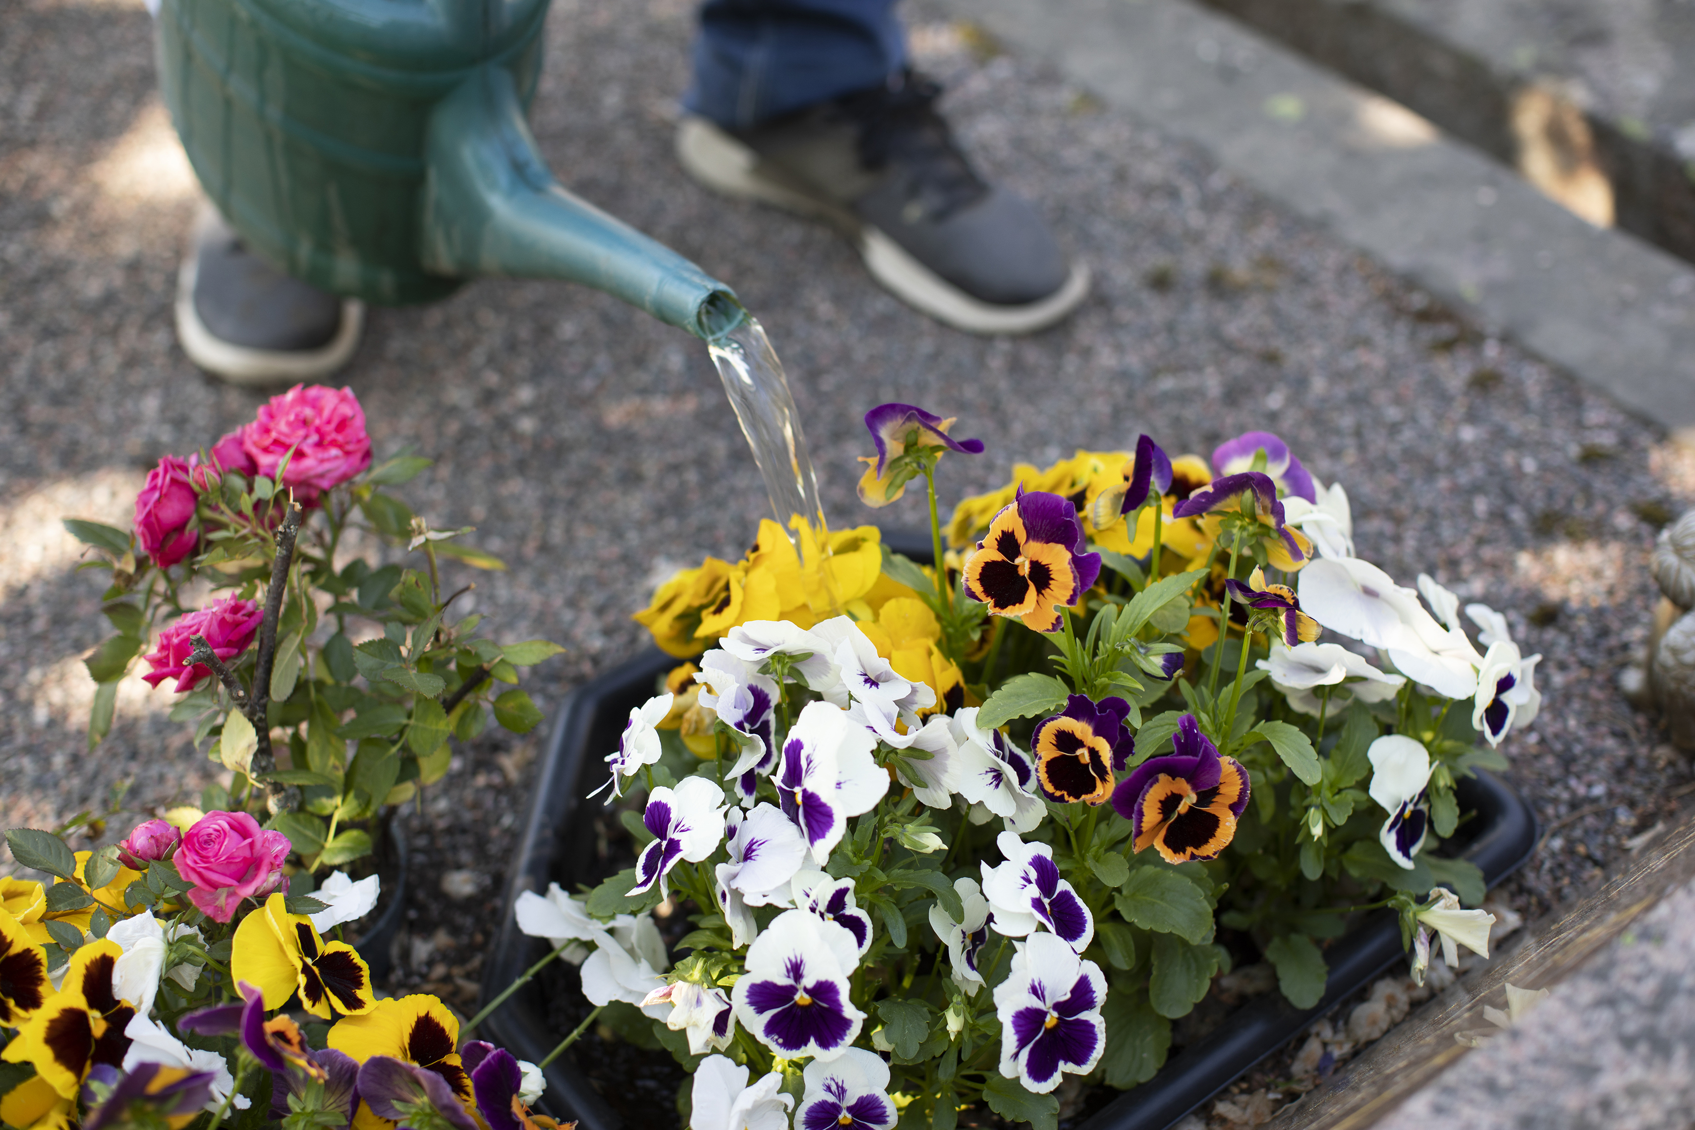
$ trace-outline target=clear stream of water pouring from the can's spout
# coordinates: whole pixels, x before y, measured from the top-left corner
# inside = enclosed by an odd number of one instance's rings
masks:
[[[753,447],[759,476],[771,496],[771,510],[788,532],[795,552],[809,557],[800,530],[790,525],[793,517],[805,520],[814,530],[815,552],[829,556],[829,527],[824,507],[819,505],[819,481],[812,473],[812,456],[807,454],[807,437],[795,415],[795,398],[788,395],[788,378],[783,363],[776,359],[764,329],[749,313],[736,329],[707,342],[712,364],[719,369],[724,391],[741,420],[742,435]],[[829,571],[825,586],[832,588]],[[831,612],[841,610],[841,598],[831,591]]]

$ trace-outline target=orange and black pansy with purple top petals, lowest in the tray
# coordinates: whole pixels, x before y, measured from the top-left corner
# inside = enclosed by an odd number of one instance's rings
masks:
[[[1248,771],[1200,732],[1195,715],[1178,720],[1175,754],[1146,761],[1119,784],[1112,806],[1134,827],[1137,852],[1156,847],[1166,862],[1215,859],[1248,808]]]

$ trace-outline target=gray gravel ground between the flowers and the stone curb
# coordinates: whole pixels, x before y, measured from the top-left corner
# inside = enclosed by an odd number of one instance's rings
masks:
[[[134,779],[132,805],[210,778],[164,695],[125,684],[97,757],[80,656],[103,635],[58,517],[124,522],[163,452],[249,418],[258,396],[198,374],[170,302],[193,183],[154,95],[139,0],[5,0],[0,36],[0,815],[51,825]],[[698,190],[670,156],[685,83],[683,0],[558,0],[534,108],[563,180],[731,281],[795,385],[836,520],[883,400],[961,417],[988,454],[951,459],[949,495],[1015,459],[1129,447],[1210,451],[1280,432],[1346,483],[1359,551],[1507,612],[1544,713],[1505,752],[1551,828],[1505,891],[1526,915],[1592,884],[1666,818],[1688,764],[1634,715],[1614,673],[1653,603],[1656,522],[1695,500],[1695,457],[1610,402],[1487,337],[1198,151],[1107,114],[924,3],[915,54],[980,164],[1039,200],[1095,269],[1066,325],[1019,341],[942,329],[881,293],[829,230]],[[75,76],[75,81],[63,81]],[[531,676],[542,708],[641,645],[629,612],[702,554],[739,556],[763,510],[705,351],[615,302],[481,281],[378,310],[344,374],[380,454],[441,457],[408,500],[480,527],[512,569],[478,578],[508,639],[570,647]],[[909,500],[881,515],[915,525]],[[468,996],[537,735],[483,739],[403,818],[414,917],[398,986]],[[442,879],[447,872],[454,872]],[[444,893],[447,891],[447,893]]]

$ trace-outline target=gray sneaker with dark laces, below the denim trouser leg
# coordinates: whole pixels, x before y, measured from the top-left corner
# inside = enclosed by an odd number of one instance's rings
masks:
[[[909,73],[742,132],[690,115],[676,156],[709,188],[831,220],[883,286],[941,322],[1053,325],[1088,295],[1088,268],[1066,261],[1024,198],[976,174],[939,93]]]

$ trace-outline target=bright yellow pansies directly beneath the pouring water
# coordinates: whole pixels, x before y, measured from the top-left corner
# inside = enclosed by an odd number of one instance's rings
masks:
[[[881,532],[875,525],[832,530],[825,556],[805,522],[797,517],[790,525],[800,535],[800,552],[783,527],[766,518],[746,557],[707,557],[700,568],[683,569],[659,586],[636,622],[653,632],[661,649],[686,659],[749,620],[790,620],[809,629],[837,608],[854,612],[856,601],[875,612],[866,601],[876,596],[883,573]]]

